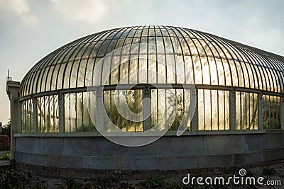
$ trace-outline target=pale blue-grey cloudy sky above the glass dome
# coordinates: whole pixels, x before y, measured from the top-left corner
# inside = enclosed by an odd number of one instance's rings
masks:
[[[201,30],[284,55],[283,0],[0,0],[0,122],[9,119],[6,76],[85,35],[131,25]]]

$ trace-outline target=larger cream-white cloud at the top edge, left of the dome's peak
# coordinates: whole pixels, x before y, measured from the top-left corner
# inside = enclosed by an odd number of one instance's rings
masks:
[[[108,10],[104,1],[100,0],[50,0],[58,11],[67,20],[97,23]]]

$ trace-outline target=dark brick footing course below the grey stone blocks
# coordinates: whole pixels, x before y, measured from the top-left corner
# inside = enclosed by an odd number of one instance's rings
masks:
[[[252,164],[245,166],[231,166],[231,167],[219,167],[219,168],[195,168],[186,170],[151,170],[151,171],[137,171],[137,170],[96,170],[96,169],[82,169],[82,168],[58,168],[58,167],[46,167],[46,166],[35,166],[31,164],[16,164],[17,170],[23,170],[31,173],[35,176],[43,176],[48,178],[96,178],[104,176],[114,176],[119,181],[133,181],[143,180],[150,176],[162,176],[163,178],[180,178],[187,176],[226,176],[236,175],[239,173],[241,168],[249,170],[256,166],[268,166],[276,163],[283,163],[283,160],[278,161],[266,161],[261,164]],[[181,180],[180,180],[181,181]]]

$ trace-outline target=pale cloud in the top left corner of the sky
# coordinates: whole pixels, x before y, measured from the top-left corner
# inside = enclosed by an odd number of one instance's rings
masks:
[[[26,0],[0,0],[0,8],[16,13],[25,23],[38,23],[38,18],[31,14]]]

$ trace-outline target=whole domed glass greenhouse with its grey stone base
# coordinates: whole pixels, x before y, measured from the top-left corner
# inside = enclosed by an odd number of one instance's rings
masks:
[[[284,159],[283,81],[284,57],[209,33],[162,25],[94,33],[51,52],[21,83],[7,81],[12,157],[39,171]],[[121,133],[146,131],[163,134],[123,142]]]

